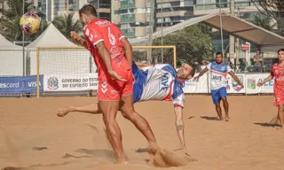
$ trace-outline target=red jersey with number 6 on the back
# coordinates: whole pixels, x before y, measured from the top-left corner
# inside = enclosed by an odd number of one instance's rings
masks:
[[[106,19],[92,19],[84,28],[83,34],[86,37],[88,50],[95,60],[98,67],[99,81],[111,79],[107,73],[106,65],[99,56],[99,50],[96,48],[98,42],[104,42],[106,49],[112,58],[112,69],[120,74],[130,70],[127,59],[123,55],[123,47],[120,40],[124,37],[119,27]]]

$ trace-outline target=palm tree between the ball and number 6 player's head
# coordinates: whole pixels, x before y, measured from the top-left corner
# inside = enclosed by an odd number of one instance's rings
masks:
[[[75,31],[76,33],[81,33],[83,31],[83,26],[79,19],[73,19],[74,12],[60,15],[52,21],[52,24],[59,29],[59,31],[65,35],[69,40],[70,31]]]

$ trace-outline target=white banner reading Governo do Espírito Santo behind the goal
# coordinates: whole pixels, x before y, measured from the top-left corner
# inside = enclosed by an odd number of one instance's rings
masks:
[[[98,74],[45,74],[43,84],[44,91],[80,91],[98,89]]]

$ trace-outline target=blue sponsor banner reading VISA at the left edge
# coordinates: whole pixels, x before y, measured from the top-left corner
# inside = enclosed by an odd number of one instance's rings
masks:
[[[0,94],[36,93],[36,75],[24,77],[0,77]],[[39,76],[40,92],[43,92],[43,75]]]

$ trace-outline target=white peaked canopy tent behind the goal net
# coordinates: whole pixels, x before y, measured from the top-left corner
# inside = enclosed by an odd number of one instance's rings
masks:
[[[40,50],[40,74],[91,73],[91,70],[96,69],[94,62],[90,60],[90,52],[79,49],[79,46],[70,42],[52,23],[27,47],[30,57],[30,74],[36,74],[37,47],[49,48],[49,50]]]

